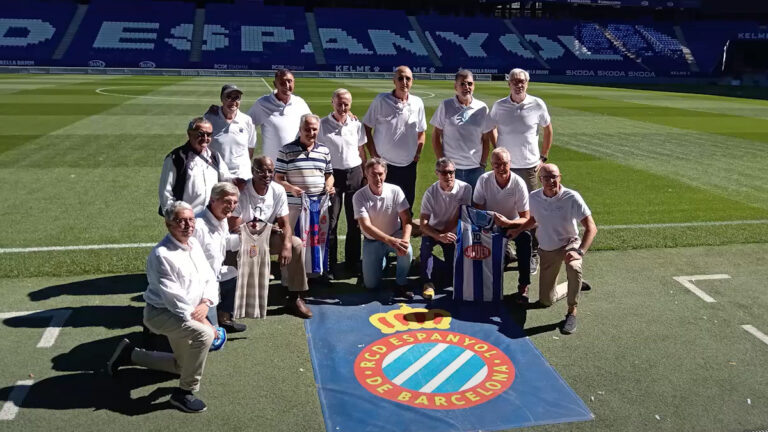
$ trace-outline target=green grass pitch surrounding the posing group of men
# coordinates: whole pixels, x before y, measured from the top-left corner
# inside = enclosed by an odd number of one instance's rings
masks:
[[[302,323],[279,300],[264,321],[209,358],[202,416],[168,409],[162,374],[98,370],[123,335],[138,336],[148,248],[6,253],[12,248],[154,243],[163,157],[190,118],[217,103],[221,85],[245,91],[242,110],[269,91],[261,78],[0,75],[0,429],[323,430]],[[338,87],[362,117],[386,80],[298,79],[319,115]],[[665,88],[669,90],[669,88]],[[427,120],[452,83],[415,82]],[[553,119],[550,160],[600,229],[585,260],[596,287],[576,335],[554,324],[565,306],[529,311],[525,327],[547,360],[595,413],[552,431],[768,428],[768,102],[706,94],[533,82]],[[489,106],[505,83],[479,82]],[[418,196],[434,182],[431,126]],[[418,240],[414,244],[417,248]],[[673,278],[727,274],[695,284]],[[508,273],[507,290],[514,285]],[[535,286],[535,283],[534,283]],[[354,290],[338,282],[332,292]],[[535,294],[534,294],[535,297]],[[50,318],[2,314],[67,308],[50,348]],[[13,420],[14,384],[34,380]],[[5,404],[5,405],[3,405]]]

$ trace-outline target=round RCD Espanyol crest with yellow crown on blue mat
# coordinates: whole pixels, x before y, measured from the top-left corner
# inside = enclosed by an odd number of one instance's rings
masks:
[[[478,338],[430,330],[447,328],[450,320],[447,311],[405,305],[372,316],[371,323],[390,335],[358,354],[358,382],[376,396],[426,409],[469,408],[502,394],[515,379],[512,361]]]

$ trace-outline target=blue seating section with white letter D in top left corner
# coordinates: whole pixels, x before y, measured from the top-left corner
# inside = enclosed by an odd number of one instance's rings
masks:
[[[75,13],[75,3],[3,2],[0,65],[47,64]]]

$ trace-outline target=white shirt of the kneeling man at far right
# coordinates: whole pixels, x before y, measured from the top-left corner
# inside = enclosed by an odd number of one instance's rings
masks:
[[[544,189],[531,192],[531,216],[536,219],[536,238],[539,247],[553,251],[563,246],[579,247],[579,227],[585,217],[592,214],[578,192],[560,185],[560,191],[552,198],[544,195]]]

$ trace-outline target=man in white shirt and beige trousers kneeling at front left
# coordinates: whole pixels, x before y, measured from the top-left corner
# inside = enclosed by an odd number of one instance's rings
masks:
[[[166,207],[163,216],[168,234],[147,258],[144,324],[152,332],[167,336],[173,353],[145,351],[123,339],[107,363],[107,371],[114,375],[122,366],[137,364],[179,374],[171,404],[185,412],[202,412],[206,405],[193,392],[200,389],[205,360],[215,338],[206,316],[218,302],[219,286],[193,236],[195,214],[190,205],[176,201]]]

